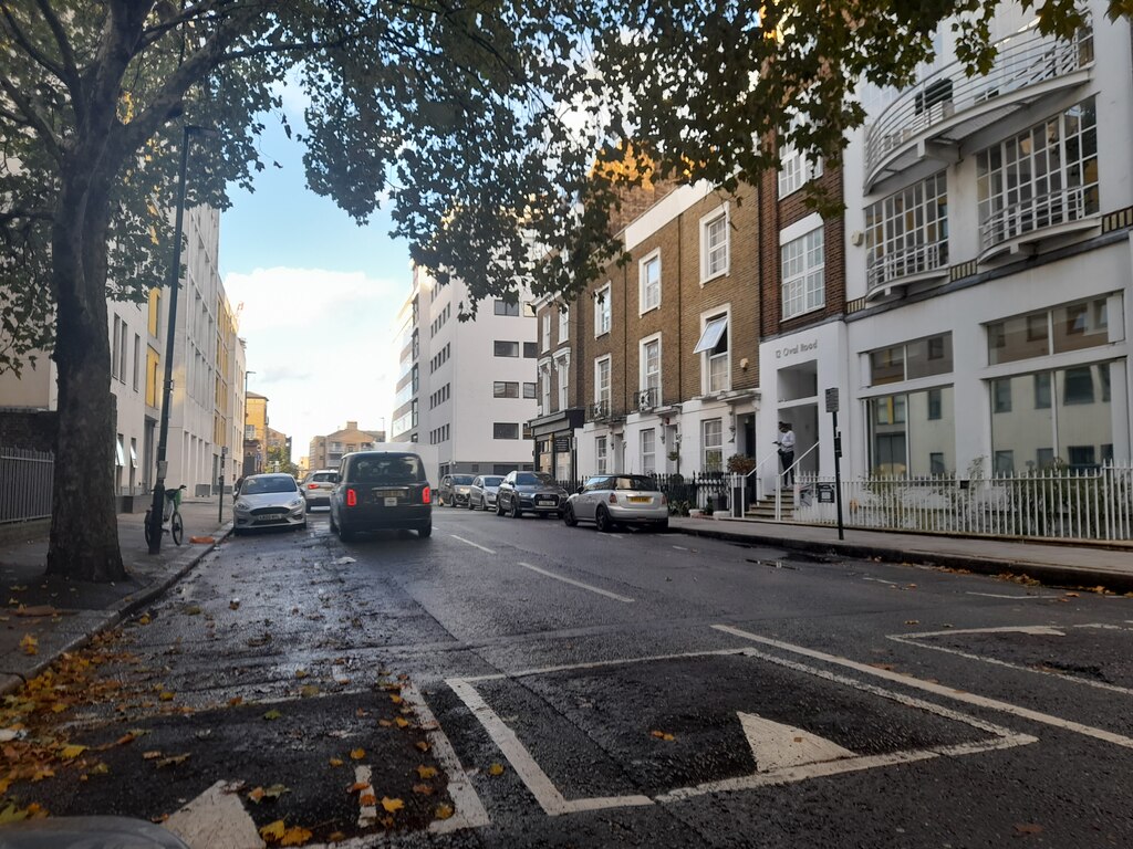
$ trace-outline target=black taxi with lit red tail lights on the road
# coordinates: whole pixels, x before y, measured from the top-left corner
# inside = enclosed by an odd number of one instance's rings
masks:
[[[433,533],[433,490],[425,463],[408,451],[347,454],[331,494],[331,530],[343,542],[361,531],[408,529]]]

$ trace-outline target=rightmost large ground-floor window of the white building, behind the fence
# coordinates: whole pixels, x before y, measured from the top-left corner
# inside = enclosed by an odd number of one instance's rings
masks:
[[[1087,471],[1113,460],[1109,369],[1097,362],[993,380],[995,471],[1019,474],[1054,464]]]

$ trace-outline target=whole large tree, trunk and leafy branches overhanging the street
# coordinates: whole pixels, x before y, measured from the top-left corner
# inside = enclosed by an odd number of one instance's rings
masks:
[[[1022,5],[1047,32],[1081,22],[1074,0]],[[113,524],[92,516],[112,486],[92,436],[112,427],[105,298],[170,277],[184,125],[219,132],[194,151],[189,200],[223,208],[298,86],[312,190],[358,221],[387,199],[393,235],[442,283],[462,278],[470,309],[519,283],[570,300],[620,254],[619,182],[727,190],[775,164],[773,138],[837,162],[863,120],[859,80],[908,82],[947,18],[986,67],[998,6],[0,0],[0,369],[36,351],[59,367],[49,568],[69,534],[69,557],[113,572],[117,539],[83,528]],[[627,152],[640,168],[600,168]]]

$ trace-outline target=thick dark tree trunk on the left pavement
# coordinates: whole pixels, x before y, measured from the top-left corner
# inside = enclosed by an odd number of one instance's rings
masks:
[[[59,441],[48,574],[80,581],[126,577],[114,509],[114,401],[107,328],[109,197],[93,168],[62,175],[52,233]]]

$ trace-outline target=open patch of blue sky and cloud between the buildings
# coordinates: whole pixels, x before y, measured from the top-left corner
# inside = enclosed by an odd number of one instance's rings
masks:
[[[286,97],[284,108],[299,126],[297,103]],[[298,462],[312,437],[347,421],[389,430],[391,342],[412,277],[407,245],[386,235],[386,211],[359,228],[307,189],[301,146],[266,123],[267,168],[255,191],[230,188],[232,207],[221,216],[220,273],[229,301],[244,303],[248,391],[267,396],[269,427],[292,437]]]

